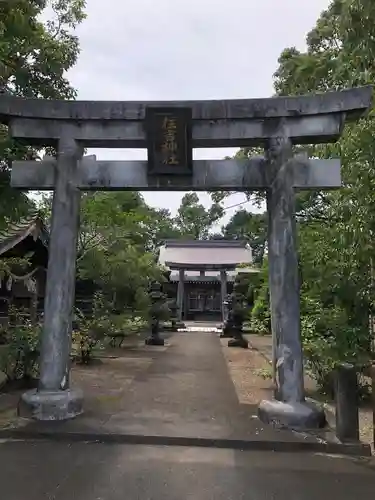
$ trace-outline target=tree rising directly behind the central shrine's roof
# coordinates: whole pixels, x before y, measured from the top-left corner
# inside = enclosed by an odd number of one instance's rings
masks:
[[[213,195],[217,200],[206,209],[199,203],[197,193],[186,193],[178,209],[175,224],[183,238],[208,239],[211,227],[221,219],[224,209],[222,197]]]

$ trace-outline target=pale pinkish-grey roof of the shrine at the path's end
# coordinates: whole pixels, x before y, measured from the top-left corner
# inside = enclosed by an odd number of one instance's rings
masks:
[[[197,266],[217,268],[236,267],[252,263],[251,248],[245,241],[207,240],[207,241],[167,241],[160,248],[159,262],[169,267],[192,269]]]

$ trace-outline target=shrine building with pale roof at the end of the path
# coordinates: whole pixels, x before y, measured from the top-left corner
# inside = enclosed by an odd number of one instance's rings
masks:
[[[159,263],[171,271],[166,291],[177,298],[179,319],[187,321],[222,320],[236,275],[258,272],[250,246],[239,240],[166,241]]]

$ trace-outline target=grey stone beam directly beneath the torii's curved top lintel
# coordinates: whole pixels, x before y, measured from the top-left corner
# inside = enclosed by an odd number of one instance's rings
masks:
[[[343,116],[311,115],[289,117],[288,135],[298,144],[336,141],[342,130]],[[14,138],[36,146],[54,145],[64,133],[64,120],[12,118]],[[193,148],[259,146],[268,138],[264,120],[194,120]],[[141,121],[84,120],[74,124],[74,138],[86,147],[147,148],[146,131]]]

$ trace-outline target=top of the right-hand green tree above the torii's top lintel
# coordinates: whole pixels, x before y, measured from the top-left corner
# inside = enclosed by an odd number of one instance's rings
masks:
[[[375,4],[334,0],[307,35],[307,51],[285,49],[275,73],[280,95],[336,90],[372,83]]]

